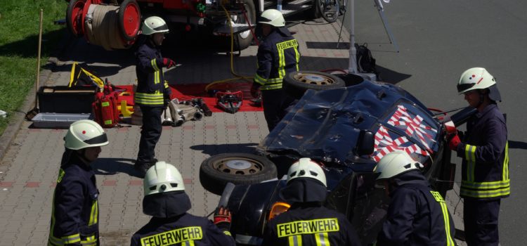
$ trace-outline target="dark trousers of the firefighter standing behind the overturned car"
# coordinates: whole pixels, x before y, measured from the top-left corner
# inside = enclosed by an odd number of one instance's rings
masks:
[[[296,102],[282,89],[261,91],[261,101],[263,116],[266,117],[269,132],[273,131],[278,122],[287,114],[287,108]]]

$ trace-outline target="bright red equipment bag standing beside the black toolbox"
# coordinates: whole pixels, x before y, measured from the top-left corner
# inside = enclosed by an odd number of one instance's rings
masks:
[[[117,111],[117,93],[96,93],[96,99],[92,103],[95,121],[102,127],[110,128],[119,125],[119,111]]]

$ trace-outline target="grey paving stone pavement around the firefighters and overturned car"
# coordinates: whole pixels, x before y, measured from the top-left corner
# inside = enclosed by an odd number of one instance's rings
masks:
[[[299,21],[289,27],[299,40],[302,70],[346,69],[347,45],[334,48],[339,22]],[[343,31],[341,41],[349,41]],[[310,43],[323,48],[312,48]],[[165,43],[164,46],[171,44]],[[331,45],[331,46],[330,46]],[[241,75],[256,70],[256,46],[234,58],[233,67]],[[104,51],[82,39],[71,39],[65,53],[53,60],[51,75],[44,85],[66,85],[74,61],[87,65],[113,84],[134,84],[134,57],[129,51]],[[176,63],[167,72],[171,84],[208,83],[233,77],[229,57],[210,51],[174,51]],[[167,55],[165,55],[167,56]],[[53,188],[63,153],[65,129],[35,129],[23,122],[6,155],[0,162],[0,246],[44,245],[48,238]],[[100,236],[102,245],[129,245],[131,235],[150,219],[142,212],[143,183],[134,176],[140,128],[106,129],[110,144],[103,147],[96,169],[100,190]],[[218,112],[181,127],[163,127],[155,150],[159,160],[174,164],[182,173],[186,192],[193,204],[191,214],[205,216],[217,205],[219,196],[207,192],[199,181],[201,162],[218,153],[251,153],[268,134],[262,112]]]

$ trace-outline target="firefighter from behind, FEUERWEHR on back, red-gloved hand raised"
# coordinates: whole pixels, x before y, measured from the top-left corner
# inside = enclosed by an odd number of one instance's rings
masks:
[[[228,231],[231,214],[219,207],[214,222],[188,214],[190,198],[185,193],[178,169],[166,162],[157,162],[146,172],[143,213],[150,222],[131,238],[136,245],[235,245]]]

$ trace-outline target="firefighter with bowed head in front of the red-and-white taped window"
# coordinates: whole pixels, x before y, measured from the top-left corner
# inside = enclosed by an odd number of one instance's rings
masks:
[[[421,173],[422,164],[403,150],[379,160],[375,172],[391,198],[386,221],[377,236],[383,245],[455,245],[455,226],[445,200]]]

